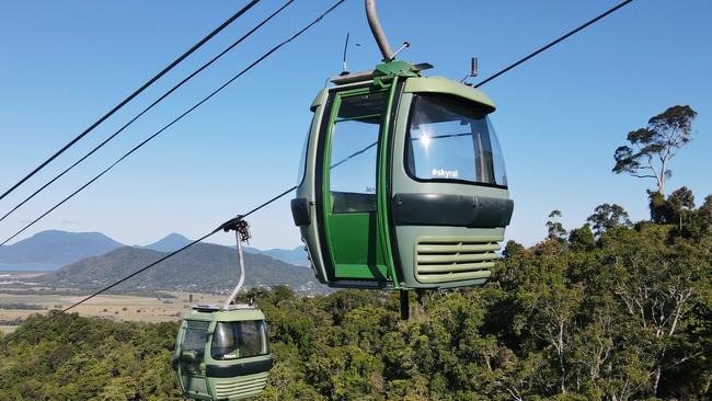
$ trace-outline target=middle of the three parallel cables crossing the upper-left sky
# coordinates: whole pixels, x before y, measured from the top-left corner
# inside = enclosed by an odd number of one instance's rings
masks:
[[[289,4],[291,4],[295,0],[288,0],[284,5],[282,5],[279,9],[277,9],[275,12],[273,12],[266,19],[262,20],[257,25],[255,25],[252,30],[250,30],[248,33],[242,35],[239,39],[233,42],[230,46],[226,47],[222,51],[220,51],[217,56],[213,57],[208,62],[204,64],[200,68],[196,69],[184,78],[181,82],[175,84],[173,88],[171,88],[168,92],[163,93],[160,98],[158,98],[153,103],[145,107],[140,113],[138,113],[134,118],[131,118],[128,123],[124,124],[117,131],[112,134],[108,138],[104,139],[101,144],[99,144],[96,147],[94,147],[91,151],[82,156],[79,160],[77,160],[73,164],[65,169],[61,173],[57,174],[54,179],[49,180],[47,183],[45,183],[43,186],[41,186],[38,190],[36,190],[32,195],[27,196],[24,200],[15,205],[12,209],[10,209],[8,213],[5,213],[2,217],[0,217],[0,222],[7,219],[10,215],[12,215],[15,210],[18,210],[20,207],[22,207],[24,204],[30,202],[32,198],[37,196],[41,192],[43,192],[45,188],[47,188],[49,185],[51,185],[55,181],[59,180],[62,175],[67,174],[69,171],[71,171],[73,168],[76,168],[79,163],[84,161],[87,158],[92,156],[94,152],[96,152],[99,149],[103,148],[104,145],[108,144],[112,139],[114,139],[116,136],[118,136],[120,133],[124,131],[124,129],[128,128],[134,122],[136,122],[138,118],[140,118],[143,114],[148,113],[153,106],[159,104],[161,101],[163,101],[165,98],[168,98],[171,93],[173,93],[175,90],[181,88],[184,83],[193,79],[195,76],[200,73],[203,70],[208,68],[211,64],[217,61],[219,58],[225,56],[228,51],[232,50],[236,46],[238,46],[240,43],[242,43],[244,39],[250,37],[254,32],[256,32],[259,28],[261,28],[264,24],[269,22],[273,18],[275,18],[279,12],[282,12],[284,9],[286,9]]]

